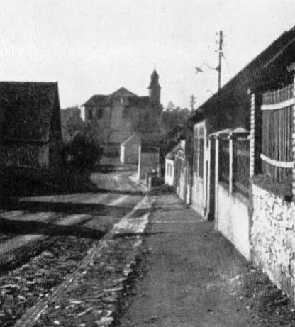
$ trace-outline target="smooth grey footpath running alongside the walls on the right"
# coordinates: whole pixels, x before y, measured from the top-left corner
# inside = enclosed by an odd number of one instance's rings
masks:
[[[282,324],[278,305],[264,309],[279,290],[177,196],[157,196],[144,246],[148,254],[137,268],[142,277],[133,282],[116,326]],[[292,321],[284,326],[295,326]]]

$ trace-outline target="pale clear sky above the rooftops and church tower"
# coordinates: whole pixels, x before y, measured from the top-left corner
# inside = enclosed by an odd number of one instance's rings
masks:
[[[147,95],[154,67],[162,104],[196,106],[295,25],[295,0],[0,0],[0,80],[57,81],[62,108],[126,87]],[[209,90],[209,91],[207,91]]]

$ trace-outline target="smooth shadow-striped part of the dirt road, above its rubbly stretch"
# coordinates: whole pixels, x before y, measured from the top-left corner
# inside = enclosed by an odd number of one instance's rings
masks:
[[[143,197],[134,191],[127,175],[96,173],[91,178],[99,186],[97,193],[22,198],[10,211],[0,211],[0,272],[23,264],[39,248],[43,250],[43,241],[50,236],[101,238]]]

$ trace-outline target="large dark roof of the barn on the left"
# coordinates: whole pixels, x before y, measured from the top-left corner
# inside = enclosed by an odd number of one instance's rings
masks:
[[[1,138],[47,142],[56,101],[57,83],[0,82]]]

